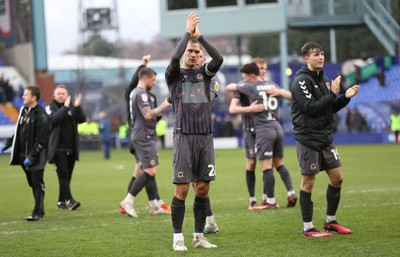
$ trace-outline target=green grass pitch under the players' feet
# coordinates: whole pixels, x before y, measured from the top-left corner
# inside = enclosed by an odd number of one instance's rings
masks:
[[[400,242],[400,146],[339,146],[345,182],[338,220],[352,235],[303,238],[299,206],[249,211],[242,149],[217,150],[217,180],[210,196],[220,232],[207,236],[217,249],[193,249],[193,192],[186,201],[184,235],[188,251],[172,248],[169,216],[150,217],[145,191],[138,195],[137,219],[121,215],[119,202],[126,193],[133,157],[112,152],[105,161],[101,152],[82,152],[72,181],[74,197],[82,206],[73,212],[57,211],[58,182],[51,165],[46,167],[47,219],[26,222],[33,197],[22,169],[8,166],[0,156],[0,256],[398,256]],[[296,192],[300,175],[294,147],[285,150],[286,166]],[[174,187],[172,151],[160,151],[157,183],[160,196],[171,202]],[[284,206],[286,193],[279,175],[276,197]],[[317,176],[313,192],[314,224],[322,230],[327,176]],[[257,170],[257,198],[261,197],[261,172]]]

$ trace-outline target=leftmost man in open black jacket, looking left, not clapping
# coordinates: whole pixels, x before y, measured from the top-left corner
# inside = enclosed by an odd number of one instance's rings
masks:
[[[45,217],[43,174],[49,139],[49,120],[42,106],[38,104],[38,87],[27,87],[22,98],[24,106],[20,109],[15,133],[0,146],[0,153],[12,146],[10,165],[21,165],[35,199],[32,215],[26,220],[37,221]]]

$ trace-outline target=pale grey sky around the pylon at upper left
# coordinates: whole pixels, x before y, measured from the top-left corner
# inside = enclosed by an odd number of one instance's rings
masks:
[[[159,34],[159,0],[115,0],[119,31],[122,41],[146,41]],[[78,32],[78,6],[84,9],[112,7],[114,0],[44,0],[47,52],[59,55],[76,49]],[[82,13],[82,12],[81,12]],[[114,36],[114,33],[111,36]]]

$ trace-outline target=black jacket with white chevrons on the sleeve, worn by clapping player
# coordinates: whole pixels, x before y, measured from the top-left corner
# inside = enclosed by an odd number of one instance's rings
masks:
[[[333,114],[345,107],[350,99],[336,97],[330,90],[328,77],[309,70],[297,71],[291,89],[293,135],[297,141],[317,151],[333,142]]]

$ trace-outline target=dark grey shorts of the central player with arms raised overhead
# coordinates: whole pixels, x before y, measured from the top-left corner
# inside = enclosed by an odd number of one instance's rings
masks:
[[[174,134],[173,182],[215,180],[212,134]]]

